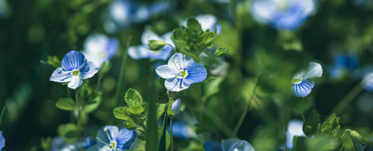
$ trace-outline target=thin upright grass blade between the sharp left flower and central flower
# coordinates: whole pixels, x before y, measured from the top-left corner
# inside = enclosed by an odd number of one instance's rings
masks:
[[[129,42],[131,41],[131,36],[128,37],[128,40],[127,40],[127,44],[126,44],[126,48],[123,52],[123,61],[122,61],[122,66],[120,68],[120,72],[119,72],[119,77],[118,77],[118,85],[117,85],[117,91],[115,92],[115,96],[116,96],[116,99],[115,99],[115,102],[114,102],[114,105],[115,106],[118,106],[118,103],[121,102],[122,100],[122,96],[124,96],[124,69],[125,69],[125,66],[126,66],[126,60],[127,60],[127,50],[128,50],[128,46],[129,46]]]

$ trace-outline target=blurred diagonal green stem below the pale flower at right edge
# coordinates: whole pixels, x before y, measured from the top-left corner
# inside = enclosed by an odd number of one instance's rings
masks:
[[[331,114],[342,113],[342,111],[353,101],[357,95],[363,90],[361,82],[359,82],[352,90],[339,102],[339,104],[332,110]]]

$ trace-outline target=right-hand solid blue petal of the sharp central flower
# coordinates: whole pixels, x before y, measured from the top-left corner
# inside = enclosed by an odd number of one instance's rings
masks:
[[[185,77],[184,82],[188,84],[199,83],[206,79],[207,71],[200,63],[190,63],[185,69],[188,71],[188,76]]]

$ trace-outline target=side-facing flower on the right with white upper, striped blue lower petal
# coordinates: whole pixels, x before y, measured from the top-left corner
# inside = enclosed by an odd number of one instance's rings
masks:
[[[321,77],[322,68],[319,63],[309,62],[308,68],[298,72],[294,75],[292,80],[292,91],[297,97],[305,97],[311,93],[313,85],[315,85],[313,78]]]

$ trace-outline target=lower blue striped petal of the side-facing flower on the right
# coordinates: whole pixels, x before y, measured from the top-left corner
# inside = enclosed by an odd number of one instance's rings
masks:
[[[299,84],[293,84],[292,91],[296,97],[305,97],[311,93],[311,89],[315,83],[312,80],[303,80]]]

